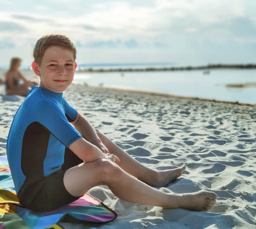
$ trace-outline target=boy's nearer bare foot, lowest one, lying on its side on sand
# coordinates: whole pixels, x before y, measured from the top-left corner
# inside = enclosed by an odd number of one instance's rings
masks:
[[[198,212],[207,212],[216,203],[217,195],[212,191],[197,191],[193,193],[178,194],[178,208]]]

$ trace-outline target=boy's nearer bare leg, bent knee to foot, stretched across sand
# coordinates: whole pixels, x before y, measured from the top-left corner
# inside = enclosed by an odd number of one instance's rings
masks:
[[[73,196],[81,196],[98,185],[107,185],[113,194],[122,200],[168,209],[208,211],[212,209],[217,199],[215,193],[208,191],[190,194],[162,192],[129,175],[107,159],[84,162],[68,169],[64,174],[64,186]]]

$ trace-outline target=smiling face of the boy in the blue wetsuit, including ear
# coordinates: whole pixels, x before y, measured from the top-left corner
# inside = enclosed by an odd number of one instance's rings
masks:
[[[62,93],[73,81],[76,63],[71,50],[51,46],[44,52],[41,65],[33,62],[32,67],[40,77],[39,87]]]

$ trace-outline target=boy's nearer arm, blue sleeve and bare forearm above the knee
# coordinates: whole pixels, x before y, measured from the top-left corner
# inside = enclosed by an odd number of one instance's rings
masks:
[[[80,159],[85,162],[100,158],[108,159],[99,148],[83,139],[83,136],[70,124],[61,106],[52,100],[39,96],[31,109],[34,119],[47,128],[65,147],[70,148]],[[72,115],[70,109],[67,110],[71,116],[68,116],[70,120],[75,119],[77,112]]]

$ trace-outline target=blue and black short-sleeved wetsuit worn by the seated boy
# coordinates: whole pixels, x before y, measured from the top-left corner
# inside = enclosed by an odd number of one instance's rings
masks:
[[[14,116],[7,157],[18,200],[35,211],[50,211],[79,197],[64,187],[64,154],[81,134],[70,124],[77,111],[62,93],[34,87]],[[72,152],[72,151],[71,151]]]

